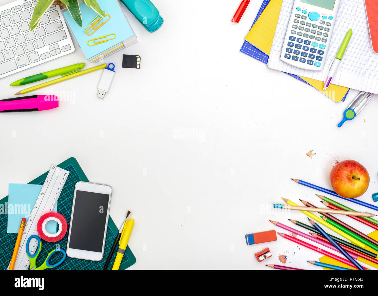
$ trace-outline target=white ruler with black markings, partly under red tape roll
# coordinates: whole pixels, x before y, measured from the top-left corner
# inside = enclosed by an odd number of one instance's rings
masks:
[[[37,198],[36,204],[34,204],[33,210],[31,211],[29,219],[26,222],[20,242],[19,252],[17,253],[17,259],[14,264],[14,269],[27,270],[29,268],[29,257],[26,254],[26,248],[29,246],[26,246],[26,241],[32,234],[38,235],[37,223],[39,218],[46,213],[54,211],[55,205],[59,199],[59,195],[62,192],[62,188],[64,187],[69,173],[69,171],[58,168],[56,165],[51,166]],[[34,251],[38,247],[37,240],[31,240],[30,246],[30,253],[34,254]]]

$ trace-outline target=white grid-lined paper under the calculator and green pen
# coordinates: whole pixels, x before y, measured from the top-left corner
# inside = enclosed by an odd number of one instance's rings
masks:
[[[335,59],[345,34],[349,29],[353,29],[349,46],[332,82],[359,91],[378,93],[378,54],[373,52],[370,42],[364,0],[341,0],[322,71],[299,69],[280,60],[293,3],[294,0],[283,0],[268,67],[311,79],[324,80],[328,67]]]

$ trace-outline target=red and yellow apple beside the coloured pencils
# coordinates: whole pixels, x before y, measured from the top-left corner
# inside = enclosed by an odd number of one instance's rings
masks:
[[[363,195],[370,181],[366,168],[355,160],[344,160],[335,165],[331,170],[330,179],[333,190],[345,198]]]

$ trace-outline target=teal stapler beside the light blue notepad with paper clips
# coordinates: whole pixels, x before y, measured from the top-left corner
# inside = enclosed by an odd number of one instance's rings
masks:
[[[147,31],[155,32],[163,25],[163,18],[150,0],[121,0],[121,2]]]

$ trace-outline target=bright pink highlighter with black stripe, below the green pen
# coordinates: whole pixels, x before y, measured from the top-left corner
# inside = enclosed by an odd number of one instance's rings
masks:
[[[34,95],[0,100],[0,112],[42,111],[59,107],[57,96]]]

